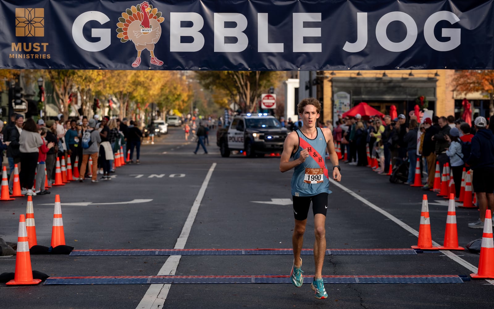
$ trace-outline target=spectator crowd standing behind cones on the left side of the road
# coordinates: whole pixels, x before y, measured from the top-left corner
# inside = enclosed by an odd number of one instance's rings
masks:
[[[3,162],[5,151],[10,177],[9,191],[12,194],[14,168],[17,165],[21,194],[37,195],[48,194],[44,187],[45,179],[51,186],[55,180],[57,158],[62,162],[70,157],[73,169],[78,169],[80,178],[98,182],[98,174],[102,180],[111,180],[111,173],[115,173],[114,154],[123,150],[129,151],[129,160],[134,163],[133,155],[136,151],[136,164],[139,164],[140,145],[143,133],[139,129],[139,122],[122,120],[105,116],[99,121],[96,115],[88,119],[86,116],[64,121],[63,114],[56,120],[32,118],[24,119],[22,114],[13,113],[10,123],[0,130],[0,154]],[[77,165],[75,164],[77,162]],[[46,174],[45,174],[46,170]],[[35,186],[36,176],[36,186]]]

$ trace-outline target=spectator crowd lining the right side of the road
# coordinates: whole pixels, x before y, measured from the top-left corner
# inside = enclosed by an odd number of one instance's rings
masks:
[[[409,119],[404,114],[391,119],[372,116],[345,117],[333,128],[333,139],[346,153],[349,165],[368,166],[367,149],[378,159],[373,169],[379,175],[388,175],[390,164],[393,172],[406,165],[404,184],[413,184],[416,162],[427,174],[422,190],[432,190],[436,162],[442,172],[448,164],[453,174],[456,197],[459,196],[463,169],[471,171],[473,191],[477,196],[480,218],[469,223],[471,228],[483,228],[486,209],[494,212],[494,116],[489,120],[477,117],[472,127],[463,119],[453,116]],[[367,148],[369,147],[369,148]],[[403,170],[403,169],[401,169]]]

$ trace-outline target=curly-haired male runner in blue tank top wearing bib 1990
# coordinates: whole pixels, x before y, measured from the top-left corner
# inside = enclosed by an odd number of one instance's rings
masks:
[[[293,168],[291,177],[291,195],[293,197],[293,213],[295,227],[291,238],[293,245],[293,266],[291,268],[291,282],[296,287],[303,283],[302,250],[307,214],[312,201],[314,213],[314,262],[316,271],[311,288],[315,291],[314,297],[325,299],[328,297],[324,288],[322,271],[326,254],[326,212],[328,210],[329,172],[325,163],[325,153],[328,149],[332,163],[331,174],[336,181],[341,180],[338,156],[334,150],[333,135],[328,128],[318,128],[317,119],[321,112],[321,103],[315,98],[306,98],[298,103],[297,111],[303,126],[301,129],[290,132],[285,139],[280,161],[280,171],[285,173]],[[293,161],[289,161],[293,156]]]

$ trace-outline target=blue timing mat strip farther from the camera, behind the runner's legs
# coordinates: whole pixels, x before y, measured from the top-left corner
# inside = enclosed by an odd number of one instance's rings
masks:
[[[413,249],[328,249],[326,255],[416,255]],[[109,249],[73,250],[70,256],[123,255],[292,255],[292,249]],[[302,249],[302,255],[313,255],[312,249]]]

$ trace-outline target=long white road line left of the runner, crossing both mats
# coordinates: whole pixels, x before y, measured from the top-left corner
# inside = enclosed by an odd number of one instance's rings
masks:
[[[194,204],[192,204],[192,208],[190,209],[189,216],[184,223],[182,228],[182,232],[175,243],[175,247],[173,249],[184,249],[185,243],[187,242],[187,238],[189,238],[190,231],[192,229],[192,224],[194,220],[196,220],[196,215],[199,210],[199,206],[201,205],[201,201],[204,197],[204,192],[206,192],[207,184],[209,183],[209,179],[213,174],[214,168],[216,167],[216,163],[213,163],[207,172],[206,178],[204,178],[203,185],[201,189],[199,189],[199,193],[197,193]],[[166,259],[165,264],[161,267],[158,272],[159,276],[162,275],[174,275],[177,271],[178,263],[180,262],[180,255],[169,256]],[[168,291],[170,290],[171,284],[151,284],[146,294],[142,298],[139,305],[137,305],[136,309],[160,309],[165,305],[166,296],[168,296]]]

